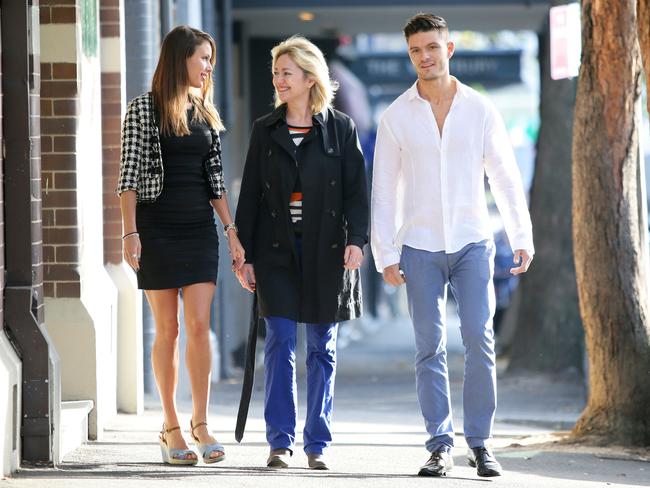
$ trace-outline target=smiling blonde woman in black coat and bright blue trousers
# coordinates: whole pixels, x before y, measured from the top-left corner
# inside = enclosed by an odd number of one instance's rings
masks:
[[[237,277],[257,294],[266,324],[267,465],[287,467],[293,453],[304,323],[304,450],[310,468],[327,469],[338,323],[361,315],[365,164],[354,123],[331,107],[336,85],[321,51],[294,36],[271,55],[276,109],[253,125],[235,219],[246,252]]]

